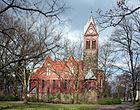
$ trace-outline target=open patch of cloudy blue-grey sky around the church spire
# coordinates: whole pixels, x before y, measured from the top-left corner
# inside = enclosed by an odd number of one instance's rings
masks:
[[[98,9],[108,10],[112,8],[116,3],[116,0],[66,0],[68,9],[64,16],[67,19],[66,22],[66,37],[77,40],[83,37],[83,29],[87,23],[88,18],[92,15],[96,18],[96,11]],[[91,14],[92,11],[92,14]],[[95,21],[96,22],[96,21]],[[111,33],[112,30],[107,30]],[[107,32],[100,33],[99,40],[102,42],[103,38],[106,38]]]

